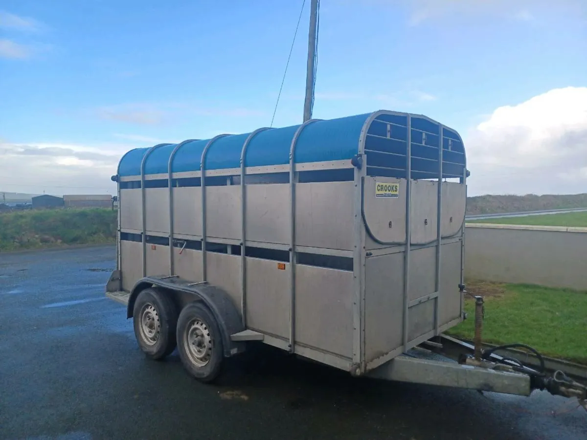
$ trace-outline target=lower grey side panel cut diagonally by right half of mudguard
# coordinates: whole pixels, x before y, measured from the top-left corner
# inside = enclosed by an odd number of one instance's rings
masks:
[[[227,253],[206,252],[208,283],[224,289],[241,309],[241,257]]]

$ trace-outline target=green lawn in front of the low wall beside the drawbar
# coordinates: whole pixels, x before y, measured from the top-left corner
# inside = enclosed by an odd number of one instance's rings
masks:
[[[470,283],[467,290],[485,296],[483,340],[520,342],[546,356],[587,364],[587,292],[530,285]],[[478,292],[475,292],[475,290]],[[465,301],[469,319],[447,333],[473,339],[474,300]]]

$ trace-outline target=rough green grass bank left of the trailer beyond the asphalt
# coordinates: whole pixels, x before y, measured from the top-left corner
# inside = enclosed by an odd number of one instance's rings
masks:
[[[63,245],[114,243],[116,211],[45,209],[0,214],[0,252]]]

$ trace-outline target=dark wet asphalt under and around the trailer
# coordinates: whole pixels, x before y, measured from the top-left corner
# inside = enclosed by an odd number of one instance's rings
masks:
[[[545,392],[359,380],[270,349],[200,384],[176,354],[139,351],[124,308],[103,294],[114,253],[0,254],[0,438],[587,438],[587,413]]]

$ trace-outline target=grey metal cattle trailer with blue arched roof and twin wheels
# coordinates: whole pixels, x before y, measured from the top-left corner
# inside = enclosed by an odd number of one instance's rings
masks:
[[[177,346],[201,381],[262,341],[356,376],[528,395],[527,372],[423,348],[465,319],[466,163],[457,131],[387,110],[136,148],[113,176],[106,295],[148,357]]]

